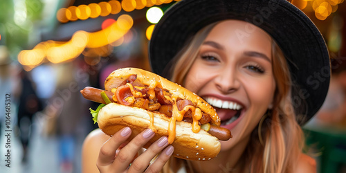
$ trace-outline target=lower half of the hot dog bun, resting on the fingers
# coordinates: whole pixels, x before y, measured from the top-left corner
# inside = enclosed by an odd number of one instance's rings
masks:
[[[98,114],[98,125],[105,134],[111,136],[123,127],[130,127],[132,134],[129,140],[150,125],[150,116],[147,110],[138,107],[128,107],[122,104],[109,103],[102,107]],[[144,147],[158,140],[161,136],[168,136],[167,127],[170,119],[161,113],[154,113],[154,127],[156,134]],[[208,161],[219,154],[221,149],[219,140],[201,129],[198,133],[192,131],[188,122],[176,122],[176,136],[172,143],[174,154],[178,158],[192,161]]]

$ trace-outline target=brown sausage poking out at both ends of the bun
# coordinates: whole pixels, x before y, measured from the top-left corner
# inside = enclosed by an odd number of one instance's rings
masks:
[[[80,93],[82,93],[83,97],[88,100],[106,104],[106,102],[104,102],[104,100],[101,97],[102,91],[104,90],[87,86],[83,90],[81,90]],[[109,98],[109,100],[111,100],[111,102],[115,102],[113,100],[113,93],[111,91],[104,91],[104,93],[106,93],[107,97]],[[219,140],[228,140],[229,138],[232,138],[232,134],[229,129],[218,127],[216,125],[210,125],[210,130],[208,132],[212,136],[217,137]]]

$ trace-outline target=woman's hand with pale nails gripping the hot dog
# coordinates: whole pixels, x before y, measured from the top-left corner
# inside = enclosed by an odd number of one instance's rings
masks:
[[[125,127],[104,143],[97,162],[100,172],[160,172],[162,170],[174,150],[172,146],[167,147],[167,137],[161,137],[138,156],[140,148],[154,137],[154,131],[146,129],[124,145],[130,135],[131,129]],[[156,160],[150,164],[157,154],[159,155]]]

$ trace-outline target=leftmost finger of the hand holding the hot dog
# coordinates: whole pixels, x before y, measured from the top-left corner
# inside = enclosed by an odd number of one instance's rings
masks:
[[[104,143],[100,149],[98,155],[98,166],[109,165],[113,163],[116,158],[116,149],[122,145],[122,143],[129,138],[131,129],[124,127],[120,131],[116,132],[106,143]]]

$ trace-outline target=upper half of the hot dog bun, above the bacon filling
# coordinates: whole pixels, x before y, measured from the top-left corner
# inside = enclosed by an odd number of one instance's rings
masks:
[[[197,103],[197,107],[199,107],[201,111],[210,115],[210,118],[212,118],[212,124],[217,126],[220,125],[221,120],[219,116],[217,116],[215,109],[212,108],[210,104],[208,104],[208,102],[206,102],[202,98],[199,98],[199,96],[197,96],[195,93],[192,93],[188,89],[185,89],[183,86],[180,86],[179,84],[162,78],[160,75],[156,75],[155,73],[151,73],[143,69],[123,68],[113,71],[104,82],[104,88],[107,91],[111,91],[111,89],[118,87],[131,75],[137,75],[137,79],[136,81],[134,81],[134,84],[138,86],[143,84],[149,86],[153,82],[160,82],[163,86],[163,89],[167,89],[181,99],[187,99],[191,100],[194,103]]]

